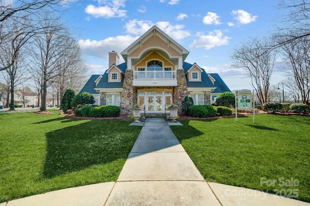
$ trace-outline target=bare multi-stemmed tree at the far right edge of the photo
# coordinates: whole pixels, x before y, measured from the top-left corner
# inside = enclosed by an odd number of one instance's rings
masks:
[[[287,37],[290,38],[290,37]],[[298,88],[301,100],[309,104],[310,96],[310,37],[303,37],[281,47],[284,63],[290,68],[294,86]]]

